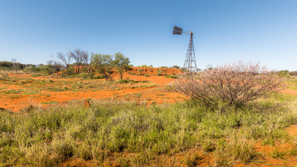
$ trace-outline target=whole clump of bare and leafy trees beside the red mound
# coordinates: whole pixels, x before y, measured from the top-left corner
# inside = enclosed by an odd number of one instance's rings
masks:
[[[58,60],[53,56],[51,58],[47,63],[53,67],[56,74],[60,71],[63,71],[65,75],[85,72],[93,76],[94,72],[97,72],[104,79],[111,81],[115,74],[120,74],[120,78],[122,79],[122,74],[131,67],[129,58],[121,52],[115,53],[115,55],[88,54],[88,51],[74,49],[67,53],[59,51],[56,54]]]

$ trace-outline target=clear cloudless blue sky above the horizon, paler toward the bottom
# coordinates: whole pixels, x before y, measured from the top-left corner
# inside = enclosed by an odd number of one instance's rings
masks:
[[[46,64],[58,51],[122,54],[134,66],[184,65],[193,31],[197,65],[260,61],[297,70],[296,0],[0,0],[0,61]]]

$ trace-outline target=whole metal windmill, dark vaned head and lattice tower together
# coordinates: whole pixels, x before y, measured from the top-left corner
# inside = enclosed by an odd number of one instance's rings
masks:
[[[188,69],[190,72],[197,71],[196,65],[196,57],[195,57],[195,49],[193,45],[193,31],[190,33],[182,31],[181,28],[174,26],[173,27],[173,35],[182,35],[182,33],[186,33],[190,35],[190,42],[188,43],[188,49],[186,50],[186,59],[184,60],[184,68]]]

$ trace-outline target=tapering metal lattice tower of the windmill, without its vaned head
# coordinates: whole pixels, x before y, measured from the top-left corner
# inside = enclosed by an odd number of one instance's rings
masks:
[[[190,72],[197,71],[195,49],[193,44],[193,31],[190,33],[190,42],[188,43],[188,49],[186,50],[186,59],[184,60],[184,68]]]

